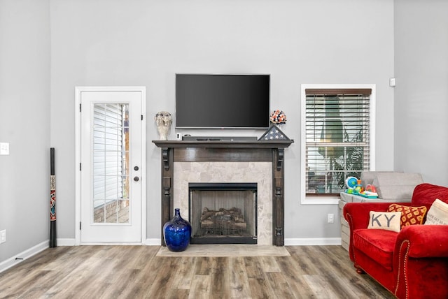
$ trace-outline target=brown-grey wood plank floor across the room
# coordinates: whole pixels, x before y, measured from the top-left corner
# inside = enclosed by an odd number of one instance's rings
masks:
[[[393,298],[340,246],[286,249],[162,257],[157,246],[49,248],[0,273],[0,298]]]

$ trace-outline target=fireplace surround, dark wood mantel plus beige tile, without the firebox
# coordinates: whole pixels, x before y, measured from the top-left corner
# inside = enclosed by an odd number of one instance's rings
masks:
[[[258,183],[258,245],[284,245],[283,155],[292,140],[153,140],[162,149],[162,223],[174,207],[188,219],[189,182]],[[162,238],[162,245],[163,238]]]

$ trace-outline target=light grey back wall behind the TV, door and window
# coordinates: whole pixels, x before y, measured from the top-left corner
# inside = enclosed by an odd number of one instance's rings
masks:
[[[377,169],[393,168],[393,2],[389,0],[51,1],[51,144],[58,149],[58,238],[74,238],[74,87],[147,91],[148,238],[160,238],[160,149],[153,116],[174,112],[174,73],[270,73],[288,115],[286,238],[339,237],[335,205],[300,205],[300,84],[377,85]],[[186,133],[186,132],[183,132]],[[188,133],[197,133],[188,131]],[[201,132],[261,136],[262,131]],[[174,139],[174,129],[172,131]],[[338,219],[338,217],[335,217]],[[313,228],[313,229],[310,229]]]

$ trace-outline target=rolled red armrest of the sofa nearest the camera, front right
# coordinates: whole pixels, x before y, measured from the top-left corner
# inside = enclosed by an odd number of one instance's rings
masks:
[[[407,255],[412,258],[446,258],[448,257],[448,226],[406,226],[397,236],[394,252],[400,252],[403,247],[407,247]]]

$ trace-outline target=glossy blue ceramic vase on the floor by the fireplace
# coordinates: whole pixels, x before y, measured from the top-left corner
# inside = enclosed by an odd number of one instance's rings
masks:
[[[174,218],[163,226],[163,238],[171,251],[184,251],[190,244],[190,222],[181,217],[179,209],[174,209]]]

